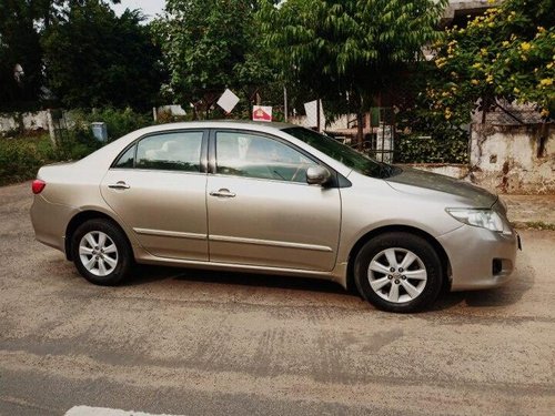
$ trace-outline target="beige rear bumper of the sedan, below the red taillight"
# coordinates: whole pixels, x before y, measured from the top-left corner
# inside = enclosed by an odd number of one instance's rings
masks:
[[[54,204],[36,195],[31,205],[31,222],[37,241],[65,253],[65,229],[78,212],[73,206]]]

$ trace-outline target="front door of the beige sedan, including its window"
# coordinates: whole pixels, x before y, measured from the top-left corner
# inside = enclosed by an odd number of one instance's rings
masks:
[[[210,261],[331,271],[337,252],[337,189],[306,183],[317,162],[276,138],[213,134],[208,179]]]

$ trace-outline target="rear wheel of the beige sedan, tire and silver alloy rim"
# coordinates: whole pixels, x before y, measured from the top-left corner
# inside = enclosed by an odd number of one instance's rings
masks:
[[[84,222],[71,240],[71,254],[77,270],[97,285],[113,286],[121,283],[131,271],[132,253],[123,231],[108,220]]]

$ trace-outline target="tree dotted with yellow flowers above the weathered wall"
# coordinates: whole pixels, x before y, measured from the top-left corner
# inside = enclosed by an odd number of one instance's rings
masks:
[[[555,18],[553,0],[505,0],[435,44],[437,81],[428,87],[433,110],[468,122],[498,99],[536,103],[547,119],[555,111]]]

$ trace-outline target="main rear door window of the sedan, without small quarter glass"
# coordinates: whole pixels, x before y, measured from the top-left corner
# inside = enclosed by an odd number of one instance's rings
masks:
[[[137,144],[137,169],[200,172],[203,132],[150,135]]]

